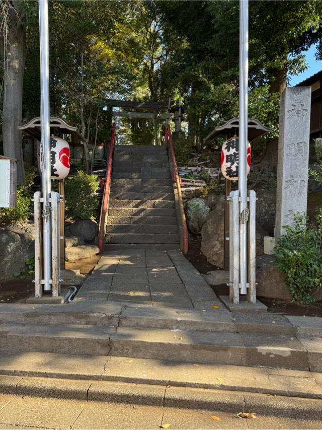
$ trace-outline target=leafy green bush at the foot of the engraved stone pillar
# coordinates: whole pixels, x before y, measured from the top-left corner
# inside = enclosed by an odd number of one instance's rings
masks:
[[[294,226],[285,227],[275,247],[276,263],[286,274],[292,298],[301,304],[314,302],[312,293],[321,286],[322,278],[322,211],[317,216],[317,226],[309,227],[308,218],[296,213]],[[315,291],[314,291],[315,289]]]

